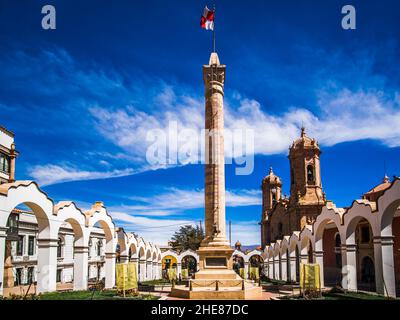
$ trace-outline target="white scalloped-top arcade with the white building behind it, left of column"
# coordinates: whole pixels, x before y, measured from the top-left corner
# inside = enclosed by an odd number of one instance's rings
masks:
[[[14,135],[0,127],[0,295],[85,290],[102,279],[113,288],[117,262],[136,263],[140,281],[161,277],[156,245],[116,227],[101,201],[81,210],[15,181],[17,155]]]

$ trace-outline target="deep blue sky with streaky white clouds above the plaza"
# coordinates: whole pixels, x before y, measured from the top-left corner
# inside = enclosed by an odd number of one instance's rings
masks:
[[[226,127],[255,130],[255,169],[226,167],[232,240],[257,244],[270,165],[289,193],[288,147],[304,124],[319,140],[323,187],[338,206],[399,175],[400,5],[215,1],[227,65]],[[57,29],[41,28],[41,8]],[[146,132],[200,128],[211,32],[202,1],[28,1],[0,5],[0,122],[16,134],[18,179],[89,208],[102,200],[128,231],[163,244],[203,219],[203,166],[146,163]],[[212,6],[213,3],[208,3]]]

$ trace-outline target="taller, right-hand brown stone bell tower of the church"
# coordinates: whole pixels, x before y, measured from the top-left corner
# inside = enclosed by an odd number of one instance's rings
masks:
[[[315,139],[308,137],[305,129],[289,149],[290,160],[290,206],[296,209],[297,229],[315,221],[325,205],[322,190],[321,150]]]

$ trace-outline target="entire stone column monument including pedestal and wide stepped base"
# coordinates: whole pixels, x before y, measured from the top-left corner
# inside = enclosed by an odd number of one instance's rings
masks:
[[[225,233],[224,83],[226,66],[213,52],[203,66],[205,85],[205,238],[197,254],[200,270],[171,296],[185,299],[259,299],[262,287],[233,270]]]

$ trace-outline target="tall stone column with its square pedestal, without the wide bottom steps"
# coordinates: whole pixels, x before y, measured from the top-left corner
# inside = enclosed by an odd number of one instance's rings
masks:
[[[198,250],[196,279],[214,278],[223,269],[235,278],[225,232],[224,82],[226,66],[216,52],[203,66],[205,85],[205,238]],[[210,271],[210,272],[208,272]],[[213,272],[214,271],[214,272]]]

